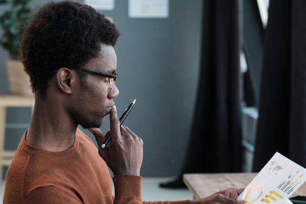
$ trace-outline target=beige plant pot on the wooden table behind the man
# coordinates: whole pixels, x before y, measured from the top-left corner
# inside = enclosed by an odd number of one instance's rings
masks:
[[[29,76],[23,70],[23,65],[18,60],[6,61],[10,93],[33,95]]]

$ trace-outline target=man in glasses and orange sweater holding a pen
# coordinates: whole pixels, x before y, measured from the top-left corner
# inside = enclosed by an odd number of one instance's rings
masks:
[[[8,169],[3,204],[153,203],[141,201],[143,141],[120,126],[113,102],[118,37],[103,14],[72,1],[45,4],[24,28],[22,63],[35,108]],[[108,114],[111,145],[103,149],[98,127]],[[95,136],[98,151],[79,124]],[[156,203],[243,204],[235,200],[241,191]]]

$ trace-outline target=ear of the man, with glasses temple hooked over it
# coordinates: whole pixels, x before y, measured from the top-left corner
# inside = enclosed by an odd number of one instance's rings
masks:
[[[59,68],[56,72],[56,82],[60,90],[66,94],[71,93],[71,84],[74,82],[75,75],[69,68]]]

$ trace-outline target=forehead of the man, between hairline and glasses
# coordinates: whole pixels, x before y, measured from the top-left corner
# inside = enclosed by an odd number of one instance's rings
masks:
[[[86,68],[107,73],[116,71],[117,56],[113,46],[101,44],[99,55],[89,60]]]

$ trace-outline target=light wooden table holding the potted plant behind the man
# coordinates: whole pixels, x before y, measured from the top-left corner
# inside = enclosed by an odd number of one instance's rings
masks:
[[[0,94],[0,178],[2,177],[3,166],[8,166],[15,154],[15,151],[5,151],[4,149],[7,107],[31,107],[33,111],[34,96]]]

